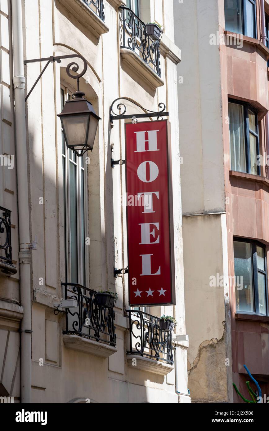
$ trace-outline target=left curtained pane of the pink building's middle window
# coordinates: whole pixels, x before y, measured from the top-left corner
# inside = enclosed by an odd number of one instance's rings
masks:
[[[244,131],[244,108],[236,103],[229,103],[231,169],[247,172]]]

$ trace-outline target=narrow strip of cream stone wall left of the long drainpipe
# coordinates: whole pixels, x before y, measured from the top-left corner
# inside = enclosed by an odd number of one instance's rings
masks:
[[[0,272],[0,397],[20,398],[19,323],[23,308],[19,305],[19,239],[17,215],[16,156],[13,112],[13,50],[11,7],[0,1],[0,154],[13,156],[14,167],[0,165],[0,206],[11,210],[13,265],[18,271],[6,276]],[[2,217],[1,212],[1,217]],[[3,236],[1,237],[3,244]],[[2,252],[1,252],[2,253]]]

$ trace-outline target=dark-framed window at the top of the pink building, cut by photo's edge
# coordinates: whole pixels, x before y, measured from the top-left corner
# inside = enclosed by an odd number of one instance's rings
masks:
[[[225,30],[256,38],[256,0],[224,0]]]

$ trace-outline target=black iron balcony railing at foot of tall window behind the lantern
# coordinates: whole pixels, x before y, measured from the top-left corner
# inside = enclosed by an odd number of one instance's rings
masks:
[[[66,330],[63,333],[116,346],[113,307],[99,305],[97,292],[81,284],[62,283],[62,286],[65,299],[77,301],[76,308],[66,309]]]

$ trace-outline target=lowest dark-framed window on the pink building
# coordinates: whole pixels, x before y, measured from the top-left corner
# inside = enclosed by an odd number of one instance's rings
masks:
[[[267,315],[266,250],[254,241],[235,239],[236,310]]]

